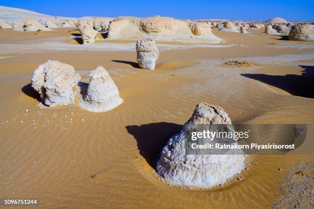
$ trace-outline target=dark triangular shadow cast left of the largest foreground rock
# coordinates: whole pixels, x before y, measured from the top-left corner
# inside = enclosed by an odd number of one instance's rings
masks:
[[[146,159],[147,163],[155,169],[156,157],[165,147],[170,137],[180,132],[182,125],[169,122],[157,122],[143,124],[141,126],[127,126],[125,128],[138,142],[140,154]]]

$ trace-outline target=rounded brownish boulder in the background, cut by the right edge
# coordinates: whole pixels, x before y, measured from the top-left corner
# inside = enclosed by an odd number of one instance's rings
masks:
[[[314,41],[314,25],[299,24],[292,26],[289,40]]]

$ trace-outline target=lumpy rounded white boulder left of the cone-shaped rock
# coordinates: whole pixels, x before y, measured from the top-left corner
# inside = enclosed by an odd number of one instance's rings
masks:
[[[40,65],[32,75],[32,88],[41,94],[47,106],[63,106],[74,103],[74,95],[81,76],[72,66],[56,60]]]

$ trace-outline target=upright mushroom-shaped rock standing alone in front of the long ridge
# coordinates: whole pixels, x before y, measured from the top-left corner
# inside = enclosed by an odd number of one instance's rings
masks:
[[[139,66],[143,69],[154,70],[159,51],[151,38],[143,38],[136,42],[136,53]]]

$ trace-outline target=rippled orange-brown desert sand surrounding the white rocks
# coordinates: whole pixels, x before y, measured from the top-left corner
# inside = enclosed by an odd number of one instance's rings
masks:
[[[0,197],[38,198],[43,208],[269,208],[284,171],[314,159],[256,156],[243,180],[214,190],[181,190],[152,172],[202,101],[223,107],[233,123],[314,123],[314,43],[214,29],[225,43],[158,43],[148,71],[136,64],[132,41],[100,37],[83,46],[74,29],[0,30]],[[72,65],[82,81],[104,66],[122,105],[105,113],[41,109],[30,78],[48,59]]]

